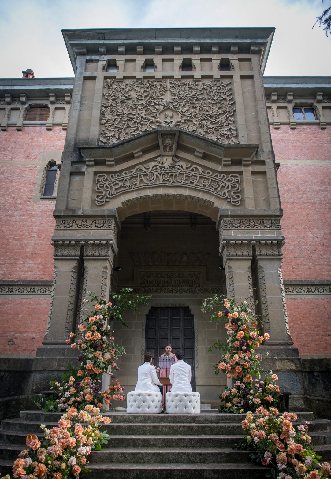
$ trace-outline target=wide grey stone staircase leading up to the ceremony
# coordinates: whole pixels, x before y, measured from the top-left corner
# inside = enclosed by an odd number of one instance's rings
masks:
[[[106,413],[112,422],[103,426],[111,435],[103,451],[89,456],[87,479],[108,479],[125,474],[128,479],[227,479],[265,478],[267,469],[251,463],[251,452],[235,449],[243,435],[243,414],[200,415]],[[331,421],[314,420],[299,412],[298,423],[309,421],[309,435],[323,461],[331,460]],[[40,424],[57,424],[60,413],[22,411],[19,419],[1,422],[0,476],[11,473],[14,459],[26,448],[28,433],[42,437]]]

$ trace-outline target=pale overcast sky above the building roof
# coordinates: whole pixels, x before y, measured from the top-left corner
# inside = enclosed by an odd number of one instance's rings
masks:
[[[330,0],[0,0],[0,78],[73,77],[61,29],[275,27],[265,76],[331,76]]]

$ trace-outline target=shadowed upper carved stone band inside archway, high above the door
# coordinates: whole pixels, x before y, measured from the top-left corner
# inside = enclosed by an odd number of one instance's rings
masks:
[[[129,253],[131,261],[135,266],[202,266],[206,265],[210,253],[205,252],[131,252]]]

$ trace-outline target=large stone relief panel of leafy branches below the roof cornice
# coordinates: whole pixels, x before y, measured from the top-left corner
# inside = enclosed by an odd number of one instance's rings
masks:
[[[102,144],[157,126],[183,128],[225,144],[238,143],[231,81],[105,80]]]

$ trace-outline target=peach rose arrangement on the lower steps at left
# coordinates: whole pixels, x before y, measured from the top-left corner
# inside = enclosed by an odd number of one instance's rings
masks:
[[[14,478],[35,479],[79,478],[80,472],[89,472],[86,468],[87,456],[92,449],[101,450],[107,444],[109,435],[99,431],[101,423],[109,424],[111,418],[101,416],[98,408],[85,406],[83,411],[68,409],[58,421],[57,426],[47,429],[41,424],[44,439],[28,434],[24,449],[14,461]],[[9,475],[1,479],[9,478]]]

